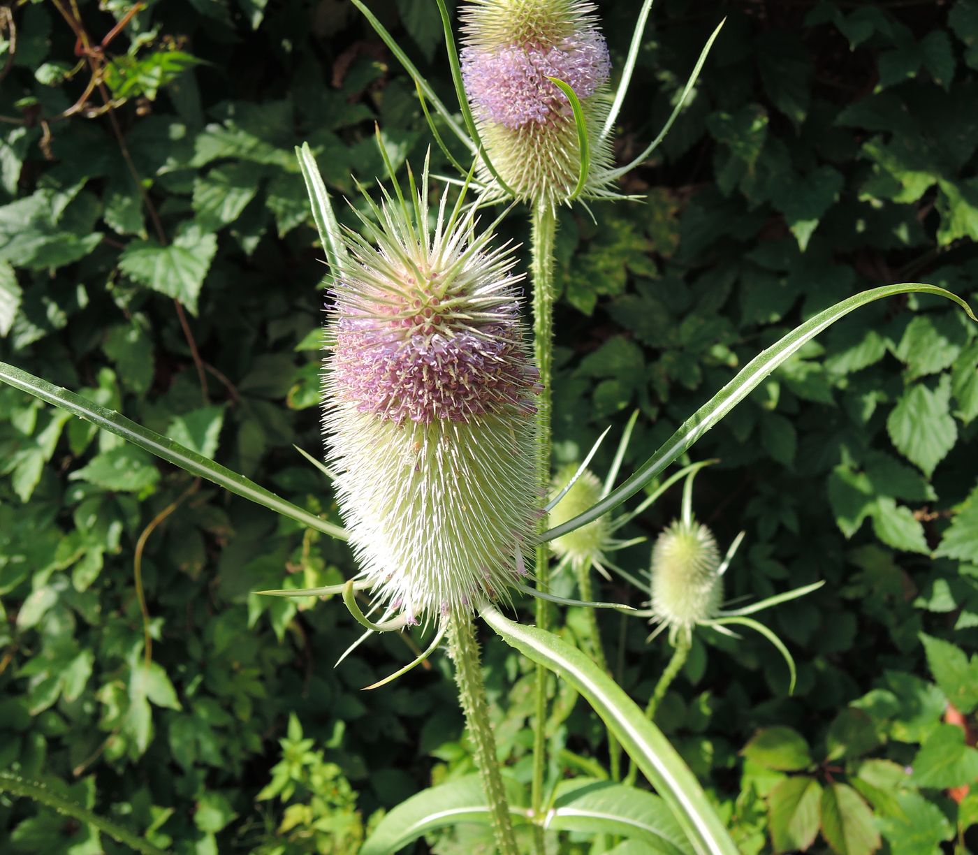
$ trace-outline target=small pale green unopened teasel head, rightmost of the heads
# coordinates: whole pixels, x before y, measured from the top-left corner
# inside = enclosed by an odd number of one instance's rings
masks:
[[[677,519],[652,548],[652,610],[671,633],[713,617],[723,598],[720,551],[707,528]]]

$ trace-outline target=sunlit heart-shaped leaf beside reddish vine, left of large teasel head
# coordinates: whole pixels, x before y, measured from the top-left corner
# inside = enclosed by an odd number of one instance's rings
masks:
[[[119,268],[136,282],[180,300],[197,314],[197,300],[217,237],[195,223],[185,225],[168,247],[156,241],[133,241],[122,250]]]

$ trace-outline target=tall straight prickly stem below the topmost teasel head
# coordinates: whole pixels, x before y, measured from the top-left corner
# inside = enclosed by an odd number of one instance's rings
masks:
[[[550,488],[551,458],[551,362],[554,351],[554,239],[556,213],[554,208],[539,200],[533,207],[530,234],[531,278],[533,281],[533,354],[540,371],[542,390],[537,400],[537,453],[540,467],[540,492],[546,496]],[[540,518],[538,533],[547,530],[547,517]],[[536,582],[540,591],[550,587],[550,547],[546,543],[537,546]],[[548,629],[550,610],[546,601],[537,599],[536,621],[540,629]],[[533,815],[541,816],[544,797],[544,771],[547,726],[547,681],[543,665],[537,665],[535,689],[535,716],[533,722],[533,779],[530,800]],[[536,847],[543,852],[543,831],[537,826]]]

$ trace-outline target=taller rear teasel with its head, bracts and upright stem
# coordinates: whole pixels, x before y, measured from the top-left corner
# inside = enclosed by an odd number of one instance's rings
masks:
[[[533,291],[533,348],[542,392],[537,404],[540,489],[551,480],[550,421],[556,209],[559,205],[621,200],[617,181],[645,162],[682,111],[722,22],[709,36],[689,81],[662,130],[632,162],[615,166],[612,134],[628,93],[642,47],[652,0],[645,0],[625,66],[612,94],[611,63],[597,7],[588,0],[467,0],[460,7],[461,53],[445,0],[436,0],[445,48],[455,83],[460,122],[423,80],[405,51],[365,5],[353,0],[380,38],[415,81],[424,115],[434,139],[460,175],[464,167],[445,145],[435,112],[476,158],[479,187],[486,202],[525,203],[530,213],[530,281]],[[541,517],[538,534],[546,529]],[[550,550],[542,544],[535,554],[535,583],[550,587]],[[538,600],[536,622],[550,625],[547,602]],[[534,721],[533,804],[543,800],[546,674],[537,668]],[[542,845],[538,840],[538,847]]]

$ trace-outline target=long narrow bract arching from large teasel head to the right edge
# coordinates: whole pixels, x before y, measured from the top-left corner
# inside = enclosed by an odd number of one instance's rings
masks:
[[[762,351],[748,362],[737,374],[735,378],[717,392],[707,403],[700,407],[686,422],[673,433],[658,451],[656,451],[645,463],[628,478],[620,487],[612,490],[594,507],[589,508],[583,514],[568,519],[566,522],[545,531],[541,535],[541,540],[553,540],[561,534],[587,525],[593,519],[597,519],[602,514],[606,514],[617,508],[626,499],[634,496],[667,466],[673,463],[680,455],[684,454],[707,430],[716,425],[733,408],[740,403],[751,391],[753,391],[764,379],[771,374],[778,366],[796,353],[802,345],[811,338],[818,336],[822,330],[830,327],[840,318],[844,318],[854,309],[865,306],[873,300],[882,299],[887,296],[896,296],[901,293],[934,293],[938,296],[947,297],[954,300],[971,320],[978,320],[971,311],[970,306],[956,294],[937,288],[933,285],[922,285],[919,283],[903,283],[901,285],[886,285],[882,288],[874,288],[863,293],[858,293],[848,299],[836,303],[834,306],[819,312],[815,317],[809,318],[804,324],[796,327],[787,336],[782,337],[776,344],[767,350]]]

